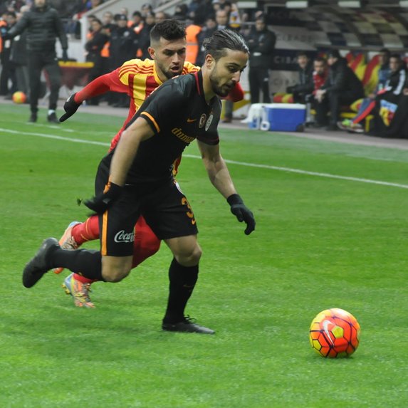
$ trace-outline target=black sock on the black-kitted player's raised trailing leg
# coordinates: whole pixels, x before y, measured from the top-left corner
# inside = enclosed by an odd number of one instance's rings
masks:
[[[52,263],[54,268],[61,266],[85,278],[105,281],[102,277],[102,256],[99,251],[93,249],[67,251],[58,248],[53,251]]]

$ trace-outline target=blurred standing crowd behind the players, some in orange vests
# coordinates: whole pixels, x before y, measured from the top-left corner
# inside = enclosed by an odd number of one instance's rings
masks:
[[[0,29],[9,31],[34,2],[35,0],[0,0]],[[156,9],[153,9],[152,4],[146,3],[140,10],[120,8],[105,11],[99,19],[92,14],[92,10],[103,4],[103,0],[47,0],[47,4],[58,11],[68,38],[80,38],[83,35],[81,20],[86,13],[85,60],[94,63],[89,73],[89,81],[132,58],[150,58],[148,48],[152,26],[164,19],[177,19],[185,22],[187,27],[186,61],[197,66],[204,62],[202,43],[205,38],[217,29],[230,28],[239,31],[246,38],[251,50],[251,102],[258,103],[261,95],[263,102],[271,102],[268,88],[269,70],[272,66],[276,36],[266,28],[266,16],[261,9],[239,10],[236,2],[229,0],[192,0],[190,4],[180,3],[172,8],[172,14],[157,11],[165,2],[157,5]],[[100,13],[98,15],[100,16]],[[0,44],[0,95],[6,95],[6,98],[11,98],[16,90],[29,92],[24,75],[17,69],[24,64],[24,55],[19,57],[24,46],[23,36]],[[98,102],[90,101],[91,104]],[[125,107],[128,104],[126,95],[111,95],[108,102],[115,107]],[[226,104],[224,121],[232,120],[232,110],[232,103]]]

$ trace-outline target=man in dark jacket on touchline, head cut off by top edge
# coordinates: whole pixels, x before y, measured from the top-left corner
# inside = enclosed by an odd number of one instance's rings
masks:
[[[59,123],[56,117],[58,93],[61,87],[61,70],[56,56],[56,38],[61,41],[63,60],[68,60],[68,41],[58,12],[46,4],[46,0],[34,0],[30,11],[6,33],[6,38],[14,38],[27,31],[27,57],[30,80],[29,122],[37,121],[38,98],[41,90],[41,71],[46,70],[50,81],[48,122]]]

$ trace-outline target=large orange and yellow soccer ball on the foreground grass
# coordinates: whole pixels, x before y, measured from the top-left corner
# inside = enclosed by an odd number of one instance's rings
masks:
[[[310,345],[322,357],[348,357],[357,350],[360,325],[357,319],[342,309],[327,309],[312,321]]]

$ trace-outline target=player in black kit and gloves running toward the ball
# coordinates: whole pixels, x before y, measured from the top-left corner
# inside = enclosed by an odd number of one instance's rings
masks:
[[[248,62],[244,39],[234,31],[216,31],[204,42],[202,70],[161,85],[142,104],[120,142],[105,156],[95,179],[96,195],[85,202],[99,214],[100,251],[66,251],[58,241],[43,241],[23,271],[27,288],[54,266],[63,266],[100,281],[121,281],[132,268],[134,226],[142,214],[173,253],[169,299],[163,330],[214,333],[184,316],[199,273],[202,250],[197,243],[194,213],[172,176],[172,163],[197,139],[211,183],[226,198],[231,212],[246,223],[255,219],[237,194],[219,152],[219,96],[239,82]]]

